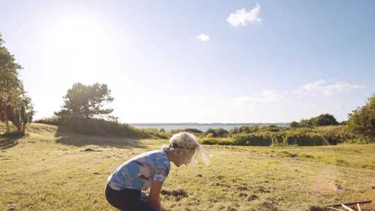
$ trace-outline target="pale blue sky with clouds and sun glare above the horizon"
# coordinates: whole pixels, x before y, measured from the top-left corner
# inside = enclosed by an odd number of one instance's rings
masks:
[[[2,1],[0,14],[36,118],[75,82],[107,83],[129,123],[342,121],[375,93],[375,1]]]

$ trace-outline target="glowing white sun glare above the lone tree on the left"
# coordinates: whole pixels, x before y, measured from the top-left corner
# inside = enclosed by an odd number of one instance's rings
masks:
[[[118,60],[106,31],[88,19],[69,19],[51,28],[44,47],[46,79],[59,82],[107,82]]]

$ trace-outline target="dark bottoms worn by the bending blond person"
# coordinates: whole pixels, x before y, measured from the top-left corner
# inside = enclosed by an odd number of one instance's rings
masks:
[[[156,211],[146,201],[142,201],[139,189],[112,189],[106,186],[106,199],[110,205],[122,211]]]

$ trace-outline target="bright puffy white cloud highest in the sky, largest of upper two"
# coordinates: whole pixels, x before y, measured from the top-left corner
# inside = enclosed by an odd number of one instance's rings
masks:
[[[247,26],[247,24],[251,23],[258,23],[262,21],[260,16],[260,5],[257,3],[256,7],[252,10],[246,11],[245,8],[235,11],[231,13],[226,21],[229,22],[232,26],[239,27],[239,26]]]

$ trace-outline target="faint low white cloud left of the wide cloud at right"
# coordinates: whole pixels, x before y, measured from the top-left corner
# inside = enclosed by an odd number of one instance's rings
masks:
[[[280,101],[283,96],[278,94],[276,90],[265,90],[258,96],[241,96],[235,100],[236,103],[240,104],[252,104],[252,103],[269,103],[274,101]]]

